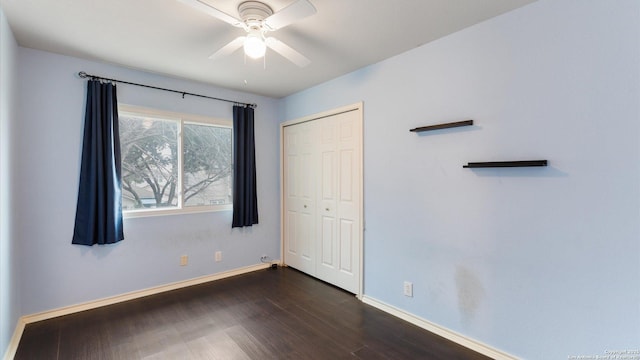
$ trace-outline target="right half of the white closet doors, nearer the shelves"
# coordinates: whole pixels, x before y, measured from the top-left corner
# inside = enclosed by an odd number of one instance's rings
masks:
[[[318,120],[320,134],[316,276],[357,292],[360,270],[359,117]]]

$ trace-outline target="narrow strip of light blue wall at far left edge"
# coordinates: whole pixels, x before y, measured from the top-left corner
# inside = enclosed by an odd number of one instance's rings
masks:
[[[13,129],[16,123],[16,72],[18,46],[0,7],[0,355],[13,335],[20,311],[17,242],[13,237],[11,194],[14,161]]]

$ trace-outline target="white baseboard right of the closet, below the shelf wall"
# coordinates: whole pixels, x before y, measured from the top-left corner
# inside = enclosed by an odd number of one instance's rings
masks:
[[[436,335],[442,336],[443,338],[447,339],[447,340],[451,340],[453,342],[455,342],[456,344],[462,345],[468,349],[471,349],[475,352],[478,352],[480,354],[483,354],[485,356],[488,356],[492,359],[496,359],[496,360],[517,360],[518,358],[513,356],[513,355],[509,355],[503,351],[494,349],[492,347],[490,347],[489,345],[483,344],[479,341],[473,340],[469,337],[466,337],[462,334],[459,334],[455,331],[449,330],[447,328],[444,328],[440,325],[434,324],[428,320],[422,319],[420,317],[417,317],[413,314],[410,314],[408,312],[405,312],[403,310],[400,310],[394,306],[391,306],[389,304],[385,304],[381,301],[378,301],[374,298],[368,297],[368,296],[363,296],[362,297],[362,302],[364,302],[365,304],[371,305],[375,308],[378,308],[386,313],[389,313],[395,317],[398,317],[402,320],[408,321],[416,326],[419,326],[427,331],[430,331]]]

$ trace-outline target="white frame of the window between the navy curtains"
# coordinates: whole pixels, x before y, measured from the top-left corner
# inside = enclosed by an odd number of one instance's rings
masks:
[[[125,116],[133,116],[133,117],[147,117],[158,120],[169,120],[176,121],[178,123],[178,169],[179,176],[177,182],[178,188],[178,205],[176,207],[167,207],[167,208],[144,208],[144,209],[133,209],[133,210],[122,210],[123,218],[138,218],[138,217],[151,217],[151,216],[165,216],[165,215],[183,215],[183,214],[194,214],[194,213],[205,213],[205,212],[218,212],[218,211],[231,211],[233,210],[233,203],[224,204],[224,205],[196,205],[196,206],[185,206],[184,205],[184,189],[183,189],[183,179],[184,179],[184,147],[183,147],[183,134],[184,134],[184,125],[185,124],[195,124],[195,125],[209,125],[209,126],[217,126],[228,128],[233,131],[233,121],[229,119],[221,119],[214,118],[209,116],[190,114],[190,113],[180,113],[173,111],[166,111],[160,109],[152,109],[141,106],[134,106],[128,104],[118,104],[118,117]],[[233,133],[232,133],[233,134]],[[233,167],[233,135],[231,138],[231,159],[230,163]],[[233,171],[230,174],[231,176],[231,186],[233,186]],[[122,190],[124,191],[124,190]]]

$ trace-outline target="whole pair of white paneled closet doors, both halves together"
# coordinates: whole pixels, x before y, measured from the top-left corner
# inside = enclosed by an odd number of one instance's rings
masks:
[[[362,108],[283,124],[284,263],[361,292]]]

